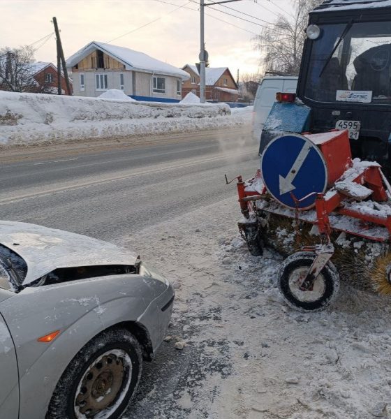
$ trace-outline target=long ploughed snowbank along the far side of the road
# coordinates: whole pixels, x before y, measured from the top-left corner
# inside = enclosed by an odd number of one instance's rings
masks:
[[[0,146],[182,133],[249,122],[226,104],[152,103],[108,91],[100,98],[0,91]]]

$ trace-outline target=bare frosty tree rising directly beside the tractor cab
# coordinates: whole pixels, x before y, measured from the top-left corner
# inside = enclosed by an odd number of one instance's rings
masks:
[[[308,13],[322,0],[293,0],[294,13],[279,15],[256,38],[256,48],[263,55],[264,71],[297,75],[306,38]]]

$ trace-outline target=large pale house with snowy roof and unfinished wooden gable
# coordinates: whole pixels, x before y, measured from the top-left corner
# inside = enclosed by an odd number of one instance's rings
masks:
[[[140,101],[177,102],[182,98],[186,71],[143,52],[91,42],[66,61],[73,74],[75,96],[100,96],[120,89]]]

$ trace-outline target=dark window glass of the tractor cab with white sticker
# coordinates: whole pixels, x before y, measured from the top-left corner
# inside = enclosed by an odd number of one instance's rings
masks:
[[[304,96],[318,102],[391,104],[391,22],[319,27],[320,37],[311,41]]]

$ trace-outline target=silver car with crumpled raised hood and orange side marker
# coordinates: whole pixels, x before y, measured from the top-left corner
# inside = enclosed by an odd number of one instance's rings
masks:
[[[0,221],[0,418],[119,418],[173,300],[126,249]]]

